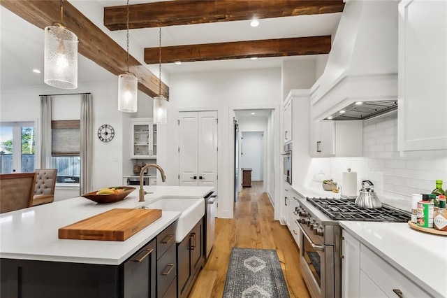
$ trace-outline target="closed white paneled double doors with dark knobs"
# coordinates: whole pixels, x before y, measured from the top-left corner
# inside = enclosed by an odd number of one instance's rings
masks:
[[[217,187],[217,112],[179,115],[179,185]]]

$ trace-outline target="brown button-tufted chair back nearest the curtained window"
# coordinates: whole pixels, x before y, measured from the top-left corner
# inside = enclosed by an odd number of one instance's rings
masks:
[[[36,173],[33,206],[52,203],[54,201],[57,169],[36,169]]]

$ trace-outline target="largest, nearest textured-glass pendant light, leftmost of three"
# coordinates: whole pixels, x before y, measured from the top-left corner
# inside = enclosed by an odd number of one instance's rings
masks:
[[[45,27],[43,81],[61,89],[78,87],[78,36],[64,26],[64,0],[60,1],[61,22]]]

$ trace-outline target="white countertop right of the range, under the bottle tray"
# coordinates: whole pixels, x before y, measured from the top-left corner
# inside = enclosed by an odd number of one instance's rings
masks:
[[[434,297],[447,297],[447,236],[418,232],[407,223],[340,225]]]

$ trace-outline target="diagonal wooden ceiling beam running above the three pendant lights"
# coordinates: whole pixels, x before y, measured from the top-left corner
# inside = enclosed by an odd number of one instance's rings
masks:
[[[61,20],[59,0],[1,0],[0,4],[42,29]],[[116,76],[126,70],[126,50],[68,1],[64,1],[64,25],[78,36],[79,54]],[[129,56],[129,71],[138,78],[138,90],[149,97],[159,94],[159,78],[132,56]],[[169,87],[165,83],[161,84],[161,93],[169,98]]]

